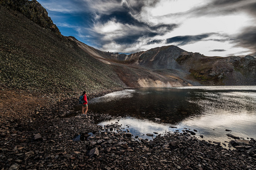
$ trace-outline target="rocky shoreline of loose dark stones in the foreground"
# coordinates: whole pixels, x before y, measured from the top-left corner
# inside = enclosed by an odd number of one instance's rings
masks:
[[[227,150],[189,132],[136,139],[107,114],[69,117],[77,99],[39,109],[30,118],[1,122],[2,169],[255,169],[256,142],[234,139]],[[152,132],[153,133],[153,132]]]

